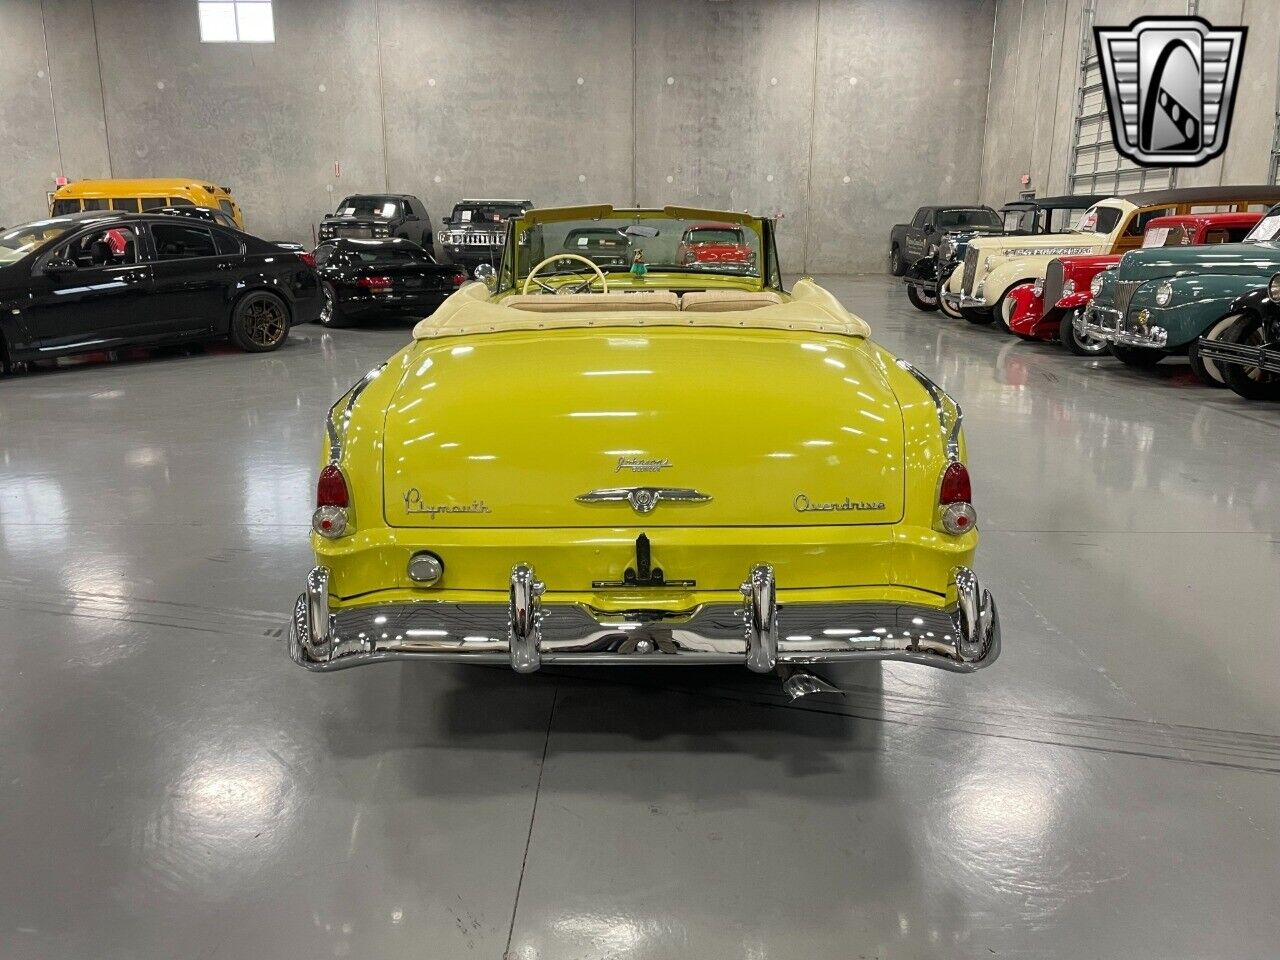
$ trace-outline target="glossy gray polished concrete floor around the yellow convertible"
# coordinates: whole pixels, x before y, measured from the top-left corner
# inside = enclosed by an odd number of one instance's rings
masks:
[[[0,380],[0,957],[1275,957],[1280,407],[829,283],[965,406],[989,671],[312,676],[407,326]]]

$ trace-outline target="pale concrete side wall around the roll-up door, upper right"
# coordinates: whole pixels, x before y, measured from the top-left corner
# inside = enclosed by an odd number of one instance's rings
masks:
[[[1275,0],[1198,0],[1198,15],[1221,27],[1247,26],[1244,63],[1226,151],[1178,172],[1178,186],[1265,183],[1271,163],[1280,17]],[[1001,204],[1027,189],[1066,192],[1084,0],[997,0],[991,105],[980,196]],[[1187,14],[1188,0],[1097,0],[1097,24],[1143,15]],[[1092,41],[1091,41],[1092,42]]]

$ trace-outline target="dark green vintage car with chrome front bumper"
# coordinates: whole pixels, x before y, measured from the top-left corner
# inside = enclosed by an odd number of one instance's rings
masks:
[[[1215,340],[1236,320],[1231,302],[1266,287],[1280,271],[1280,205],[1243,243],[1151,247],[1125,253],[1120,265],[1093,278],[1093,302],[1076,330],[1111,343],[1130,366],[1152,366],[1185,353],[1206,384],[1225,385],[1217,364],[1198,342]]]

